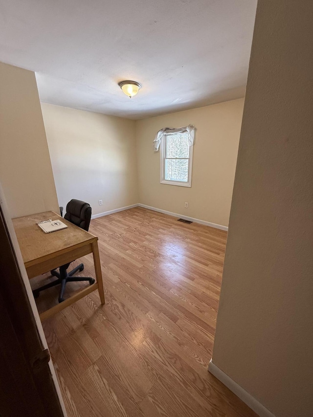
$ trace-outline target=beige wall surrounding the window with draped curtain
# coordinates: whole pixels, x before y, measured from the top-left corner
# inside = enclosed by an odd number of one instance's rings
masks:
[[[137,121],[139,202],[228,226],[243,106],[239,99]],[[160,184],[160,153],[153,151],[156,132],[189,124],[197,128],[192,186]]]

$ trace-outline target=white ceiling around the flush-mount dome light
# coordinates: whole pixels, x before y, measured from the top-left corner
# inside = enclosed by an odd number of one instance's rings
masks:
[[[232,100],[256,2],[0,0],[0,61],[36,71],[42,102],[131,119]]]

